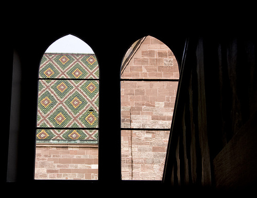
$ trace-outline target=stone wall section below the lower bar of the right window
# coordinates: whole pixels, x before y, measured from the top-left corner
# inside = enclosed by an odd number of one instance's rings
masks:
[[[121,131],[122,180],[161,180],[170,131]]]

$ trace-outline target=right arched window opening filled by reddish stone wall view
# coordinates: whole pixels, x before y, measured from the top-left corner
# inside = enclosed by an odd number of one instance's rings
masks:
[[[122,180],[161,180],[179,81],[176,58],[145,36],[124,55],[120,81]]]

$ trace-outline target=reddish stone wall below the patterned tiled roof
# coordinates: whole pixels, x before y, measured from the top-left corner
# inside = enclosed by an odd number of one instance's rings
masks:
[[[37,144],[35,180],[97,180],[98,145]]]

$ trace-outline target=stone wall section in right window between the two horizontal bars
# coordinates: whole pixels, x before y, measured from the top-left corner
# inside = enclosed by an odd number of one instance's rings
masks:
[[[121,127],[171,127],[178,82],[121,82]]]

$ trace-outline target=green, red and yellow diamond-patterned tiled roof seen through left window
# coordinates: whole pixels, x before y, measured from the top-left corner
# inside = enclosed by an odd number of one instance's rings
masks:
[[[95,79],[99,78],[99,67],[96,56],[44,54],[39,78],[37,127],[44,129],[36,130],[36,141],[97,143],[98,130],[80,129],[98,128],[99,81]]]

